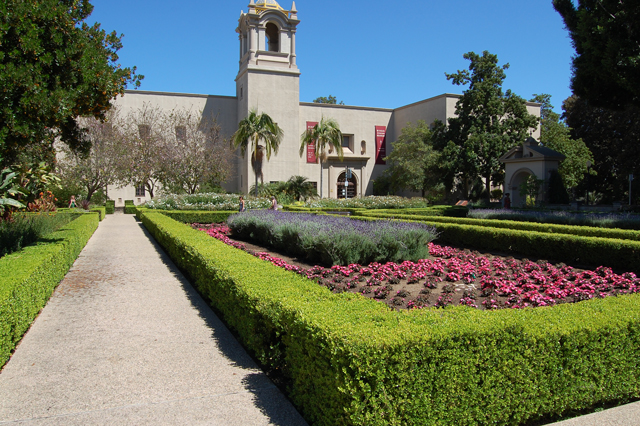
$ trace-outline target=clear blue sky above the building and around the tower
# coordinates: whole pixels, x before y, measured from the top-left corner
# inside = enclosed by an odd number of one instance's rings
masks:
[[[88,22],[124,34],[123,66],[141,90],[235,96],[235,33],[249,0],[93,0]],[[284,9],[291,0],[279,1]],[[397,108],[462,93],[444,75],[484,50],[509,63],[504,89],[571,95],[574,50],[551,0],[296,1],[300,100],[334,95],[347,105]]]

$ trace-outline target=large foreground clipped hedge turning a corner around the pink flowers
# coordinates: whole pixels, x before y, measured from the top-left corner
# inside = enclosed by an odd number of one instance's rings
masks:
[[[142,222],[311,424],[520,424],[640,396],[640,295],[390,311],[160,213]]]

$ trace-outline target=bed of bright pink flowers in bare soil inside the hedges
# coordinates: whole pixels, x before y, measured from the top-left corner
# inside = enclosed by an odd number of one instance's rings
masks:
[[[196,228],[245,249],[244,244],[229,238],[229,229],[224,225]],[[481,255],[431,243],[429,252],[432,258],[418,262],[331,268],[302,268],[267,252],[254,254],[334,292],[359,292],[396,309],[454,304],[479,309],[525,308],[640,291],[640,279],[634,273],[615,274],[602,266],[585,271],[564,264]]]

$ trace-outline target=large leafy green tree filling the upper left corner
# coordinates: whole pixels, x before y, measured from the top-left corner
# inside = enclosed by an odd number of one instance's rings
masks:
[[[121,36],[85,19],[89,0],[0,2],[0,156],[53,158],[53,141],[88,151],[78,117],[104,119],[110,100],[142,76],[120,68]]]

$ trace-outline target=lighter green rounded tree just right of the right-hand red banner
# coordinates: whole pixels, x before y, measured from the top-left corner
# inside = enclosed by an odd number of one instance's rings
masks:
[[[385,157],[392,188],[421,192],[422,196],[438,191],[441,183],[440,153],[433,148],[433,134],[420,120],[403,127],[393,150]]]

